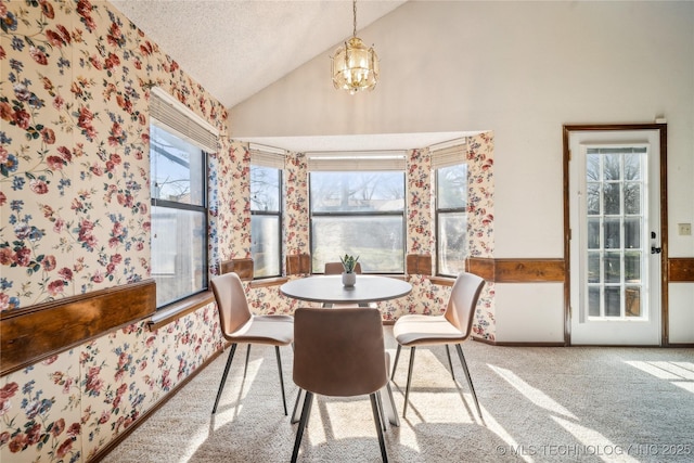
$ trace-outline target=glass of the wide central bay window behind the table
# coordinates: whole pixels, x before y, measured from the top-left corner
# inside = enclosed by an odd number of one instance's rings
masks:
[[[363,272],[404,272],[404,172],[313,171],[309,189],[313,272],[345,254]]]

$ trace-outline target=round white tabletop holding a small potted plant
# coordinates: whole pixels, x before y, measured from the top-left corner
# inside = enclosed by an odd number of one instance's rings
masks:
[[[406,281],[367,274],[358,274],[354,286],[343,286],[342,275],[307,276],[280,286],[284,296],[324,305],[377,303],[411,292],[412,285]]]

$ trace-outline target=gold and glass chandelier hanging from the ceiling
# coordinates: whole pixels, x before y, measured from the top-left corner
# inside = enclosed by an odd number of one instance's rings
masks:
[[[357,0],[352,0],[355,27],[352,37],[335,50],[332,56],[333,86],[355,94],[361,90],[373,90],[378,80],[378,56],[373,47],[367,48],[357,37]]]

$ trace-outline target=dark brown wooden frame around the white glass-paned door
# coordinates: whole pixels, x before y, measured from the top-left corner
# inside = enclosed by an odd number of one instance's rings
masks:
[[[571,266],[570,266],[570,211],[569,211],[569,162],[571,158],[569,137],[571,132],[587,131],[658,131],[660,146],[660,346],[668,346],[668,185],[667,185],[667,124],[583,124],[563,126],[563,175],[564,175],[564,345],[571,345]]]

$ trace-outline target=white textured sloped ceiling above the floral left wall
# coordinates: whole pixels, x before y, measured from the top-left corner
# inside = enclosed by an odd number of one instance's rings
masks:
[[[351,36],[347,0],[111,0],[226,107]],[[403,0],[359,0],[362,29]],[[326,72],[327,75],[327,72]]]

